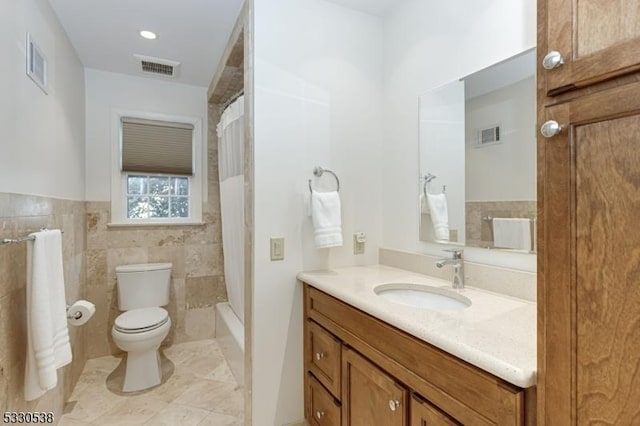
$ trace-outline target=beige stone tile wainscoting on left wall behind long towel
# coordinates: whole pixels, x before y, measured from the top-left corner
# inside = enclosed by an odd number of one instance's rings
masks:
[[[46,226],[64,229],[64,279],[69,303],[85,294],[85,205],[46,197],[0,193],[0,238],[19,238]],[[5,411],[54,412],[60,418],[86,362],[84,327],[69,327],[73,361],[58,370],[58,386],[42,398],[25,402],[27,348],[27,243],[0,246],[0,408]]]

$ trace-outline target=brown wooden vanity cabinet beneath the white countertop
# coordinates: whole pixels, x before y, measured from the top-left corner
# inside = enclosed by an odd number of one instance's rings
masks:
[[[513,386],[306,284],[304,304],[309,423],[535,424],[535,388]],[[339,419],[329,422],[320,405],[338,407]]]

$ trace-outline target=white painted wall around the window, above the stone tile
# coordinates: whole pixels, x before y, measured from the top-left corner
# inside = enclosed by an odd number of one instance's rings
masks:
[[[87,188],[86,200],[109,201],[111,198],[112,112],[126,110],[163,115],[200,117],[203,152],[207,135],[207,88],[169,81],[134,77],[87,68]],[[203,158],[206,162],[206,156]],[[206,164],[202,170],[207,170]],[[204,179],[206,184],[206,179]],[[206,191],[204,191],[206,194]]]

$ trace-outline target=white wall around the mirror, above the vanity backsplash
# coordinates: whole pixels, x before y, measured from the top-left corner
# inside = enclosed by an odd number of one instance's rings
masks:
[[[406,0],[384,20],[383,239],[387,248],[441,254],[418,241],[418,97],[536,43],[535,0]],[[535,257],[465,250],[467,259],[535,270]]]

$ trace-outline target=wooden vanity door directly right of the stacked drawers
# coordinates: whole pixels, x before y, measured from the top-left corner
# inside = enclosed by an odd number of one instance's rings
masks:
[[[357,352],[342,353],[342,423],[345,426],[407,425],[408,392]]]

